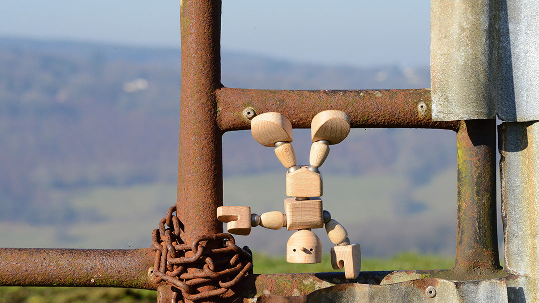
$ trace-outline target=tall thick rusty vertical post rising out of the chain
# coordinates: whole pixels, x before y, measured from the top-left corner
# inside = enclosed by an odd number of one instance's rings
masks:
[[[200,235],[223,231],[216,216],[217,207],[223,205],[222,131],[217,125],[215,93],[221,86],[221,1],[181,0],[180,11],[182,84],[176,203],[184,225],[182,239],[191,243]],[[198,291],[215,290],[214,285],[198,287]]]

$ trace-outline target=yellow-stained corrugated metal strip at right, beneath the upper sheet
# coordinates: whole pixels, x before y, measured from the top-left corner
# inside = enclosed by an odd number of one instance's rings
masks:
[[[505,270],[539,274],[539,122],[499,126]]]

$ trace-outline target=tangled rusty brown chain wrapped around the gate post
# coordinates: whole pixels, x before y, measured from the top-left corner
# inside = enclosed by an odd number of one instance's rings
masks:
[[[174,301],[195,301],[225,295],[247,273],[252,272],[251,250],[241,249],[230,234],[203,235],[191,244],[181,239],[183,224],[174,214],[176,206],[168,209],[152,233],[152,248],[156,251],[154,281],[165,281],[175,292]],[[211,243],[211,244],[210,244]],[[208,245],[210,244],[210,245]],[[220,288],[200,292],[205,285]]]

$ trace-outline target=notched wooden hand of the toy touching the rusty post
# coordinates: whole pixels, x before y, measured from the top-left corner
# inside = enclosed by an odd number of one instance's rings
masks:
[[[246,236],[251,232],[251,207],[219,206],[217,220],[226,223],[226,230],[231,234]]]

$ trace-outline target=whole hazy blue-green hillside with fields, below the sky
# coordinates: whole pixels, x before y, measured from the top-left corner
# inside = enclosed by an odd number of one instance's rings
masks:
[[[176,200],[179,58],[178,50],[0,38],[0,228],[12,230],[0,246],[149,246]],[[227,52],[222,62],[227,87],[430,86],[428,68],[299,65]],[[309,136],[295,130],[300,163]],[[225,205],[282,210],[284,168],[273,150],[248,131],[226,133],[223,145]],[[322,167],[324,208],[367,254],[451,254],[455,153],[451,131],[353,130]],[[269,252],[289,236],[253,234],[240,243]]]

